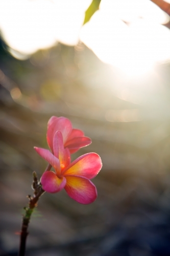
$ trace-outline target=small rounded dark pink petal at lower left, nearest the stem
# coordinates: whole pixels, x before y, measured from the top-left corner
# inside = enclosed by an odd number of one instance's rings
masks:
[[[48,193],[59,192],[66,184],[66,179],[64,177],[58,178],[51,170],[43,173],[40,181],[42,189]]]

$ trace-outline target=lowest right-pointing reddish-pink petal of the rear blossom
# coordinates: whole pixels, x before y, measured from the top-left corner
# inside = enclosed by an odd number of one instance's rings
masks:
[[[84,147],[84,146],[88,146],[89,144],[91,144],[91,139],[90,138],[88,138],[88,137],[75,137],[75,138],[73,138],[69,141],[66,141],[64,146],[68,147],[70,151],[74,151],[74,153],[75,153],[76,151],[79,150],[79,148]],[[72,153],[72,152],[70,152],[70,153]]]

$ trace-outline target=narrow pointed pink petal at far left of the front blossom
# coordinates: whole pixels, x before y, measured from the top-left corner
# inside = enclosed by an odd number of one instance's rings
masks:
[[[48,163],[50,163],[56,170],[56,173],[60,174],[60,161],[57,159],[49,150],[45,150],[44,148],[34,147],[36,152],[45,159]]]

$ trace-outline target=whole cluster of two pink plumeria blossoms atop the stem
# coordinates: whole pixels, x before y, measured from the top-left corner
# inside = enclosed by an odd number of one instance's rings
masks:
[[[47,143],[51,149],[34,147],[36,152],[50,163],[55,172],[47,170],[41,177],[43,190],[57,193],[65,189],[68,196],[79,203],[92,203],[97,190],[90,179],[102,168],[98,154],[88,153],[71,163],[70,154],[91,143],[81,130],[72,129],[71,122],[65,117],[53,116],[47,125]]]

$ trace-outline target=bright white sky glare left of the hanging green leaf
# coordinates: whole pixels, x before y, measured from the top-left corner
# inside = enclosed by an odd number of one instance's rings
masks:
[[[1,0],[0,29],[9,47],[23,55],[52,47],[57,41],[75,45],[90,3],[91,0]]]

